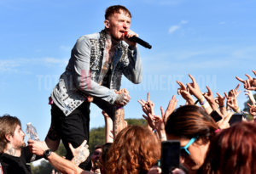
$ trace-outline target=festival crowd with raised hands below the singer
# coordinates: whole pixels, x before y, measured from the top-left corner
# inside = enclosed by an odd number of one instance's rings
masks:
[[[253,71],[256,76],[256,71]],[[185,104],[177,107],[177,99],[172,97],[166,111],[161,116],[154,115],[154,102],[148,98],[138,100],[142,105],[143,117],[147,126],[127,126],[113,137],[112,128],[106,129],[106,143],[95,147],[90,155],[92,167],[84,170],[79,164],[89,157],[86,140],[74,149],[69,143],[73,159],[67,160],[49,150],[47,143],[28,140],[24,143],[20,121],[15,116],[3,115],[0,118],[0,150],[3,173],[29,173],[32,154],[37,159],[44,157],[56,170],[62,173],[102,173],[102,174],[160,174],[161,142],[178,140],[180,142],[180,165],[170,173],[255,173],[256,165],[256,103],[253,91],[256,91],[256,79],[247,76],[247,80],[237,80],[244,84],[249,113],[240,109],[237,96],[238,87],[217,98],[207,87],[207,93],[201,89],[193,76],[192,82],[183,85],[177,92],[184,98]],[[195,99],[198,100],[195,101]],[[215,116],[213,116],[213,113]],[[241,121],[232,123],[230,119],[239,113]],[[106,127],[109,126],[108,114],[103,112]],[[216,120],[216,115],[220,119]],[[109,120],[108,120],[109,119]],[[108,121],[107,121],[108,120]],[[110,124],[111,125],[111,124]],[[48,152],[48,153],[47,153]],[[8,172],[6,171],[8,170]],[[24,172],[23,172],[24,171]]]

